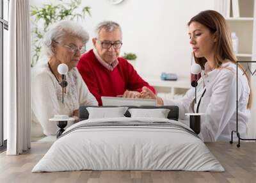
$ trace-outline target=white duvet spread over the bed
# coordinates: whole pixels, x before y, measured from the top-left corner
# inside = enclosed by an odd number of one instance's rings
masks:
[[[180,129],[111,126],[76,129],[93,122],[180,122],[163,118],[84,120],[57,139],[32,172],[72,170],[224,171],[204,142]],[[187,127],[186,125],[182,125]],[[76,130],[74,130],[74,128]],[[73,130],[72,130],[73,129]]]

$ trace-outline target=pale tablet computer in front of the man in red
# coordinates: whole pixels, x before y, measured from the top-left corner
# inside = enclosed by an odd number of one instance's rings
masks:
[[[155,99],[130,99],[123,97],[101,97],[102,106],[156,106]]]

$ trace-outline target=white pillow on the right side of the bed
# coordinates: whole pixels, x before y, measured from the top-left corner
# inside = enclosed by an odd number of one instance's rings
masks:
[[[167,118],[170,109],[128,109],[131,118],[149,117],[149,118]]]

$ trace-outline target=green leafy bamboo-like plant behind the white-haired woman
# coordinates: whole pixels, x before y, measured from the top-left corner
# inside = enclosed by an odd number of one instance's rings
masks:
[[[40,58],[42,48],[42,40],[44,34],[49,30],[49,26],[60,20],[79,20],[84,19],[85,15],[91,16],[89,6],[81,6],[81,0],[70,0],[63,2],[58,0],[58,3],[43,4],[42,6],[31,6],[31,23],[32,29],[32,59],[31,67]]]

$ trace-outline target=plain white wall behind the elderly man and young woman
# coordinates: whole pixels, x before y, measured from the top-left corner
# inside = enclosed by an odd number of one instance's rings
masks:
[[[49,1],[31,0],[31,5],[45,2]],[[124,0],[117,5],[108,0],[86,0],[83,5],[92,7],[92,17],[82,22],[90,38],[102,20],[114,20],[122,26],[122,53],[137,54],[140,74],[174,72],[189,76],[191,49],[186,24],[196,13],[213,9],[214,0]],[[91,41],[87,47],[92,48]]]

